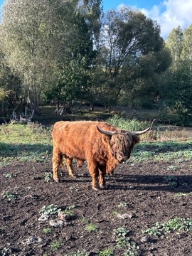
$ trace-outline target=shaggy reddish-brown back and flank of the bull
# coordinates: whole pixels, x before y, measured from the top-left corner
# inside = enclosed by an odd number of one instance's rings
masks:
[[[56,122],[52,132],[53,144],[68,157],[89,159],[98,153],[102,144],[102,134],[98,132],[97,125],[102,129],[114,129],[105,122]]]

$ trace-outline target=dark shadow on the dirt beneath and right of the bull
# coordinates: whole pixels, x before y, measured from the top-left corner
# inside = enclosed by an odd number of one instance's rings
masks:
[[[175,175],[176,181],[166,181],[165,175],[125,175],[106,176],[106,191],[166,191],[173,193],[191,193],[192,175]],[[79,174],[77,178],[68,176],[66,172],[62,183],[91,183],[90,174]],[[101,190],[101,191],[102,191]]]

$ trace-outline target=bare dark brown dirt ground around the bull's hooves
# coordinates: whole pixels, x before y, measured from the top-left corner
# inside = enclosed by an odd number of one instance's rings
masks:
[[[87,255],[105,251],[105,256],[107,250],[117,256],[192,255],[191,233],[185,230],[143,233],[156,222],[191,218],[192,160],[182,162],[179,170],[169,168],[171,164],[121,164],[99,192],[91,188],[86,164],[78,170],[78,178],[65,171],[61,183],[45,179],[51,161],[16,162],[2,168],[0,255],[78,256],[82,251]],[[175,183],[166,176],[175,176]],[[43,206],[51,205],[65,215],[42,216]],[[121,228],[129,231],[121,233]]]

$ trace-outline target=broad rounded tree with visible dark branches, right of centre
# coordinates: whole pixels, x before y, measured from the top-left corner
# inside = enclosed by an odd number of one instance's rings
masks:
[[[100,41],[95,84],[105,105],[116,105],[121,97],[130,94],[133,87],[142,87],[141,80],[146,78],[142,75],[144,63],[151,61],[152,68],[156,61],[157,67],[167,55],[156,22],[127,7],[103,15]],[[167,65],[164,68],[161,65],[161,68],[153,69],[158,73],[166,68]]]

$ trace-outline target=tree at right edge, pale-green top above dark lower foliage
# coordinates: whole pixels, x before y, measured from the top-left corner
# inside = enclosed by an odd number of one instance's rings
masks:
[[[166,76],[166,102],[175,112],[181,125],[191,124],[192,97],[192,26],[184,31],[180,27],[171,31],[167,47],[171,51],[173,64]]]

